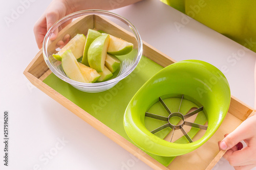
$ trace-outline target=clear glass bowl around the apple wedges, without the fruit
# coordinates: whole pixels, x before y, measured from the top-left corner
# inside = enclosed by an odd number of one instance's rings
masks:
[[[52,56],[60,50],[59,45],[67,43],[76,34],[86,36],[88,29],[100,30],[134,44],[131,53],[126,56],[117,56],[121,60],[120,69],[114,72],[110,80],[96,83],[71,80],[63,71],[61,61]],[[57,38],[50,40],[53,33],[57,34]],[[142,55],[142,40],[137,29],[124,17],[109,11],[84,10],[61,18],[50,28],[42,45],[42,53],[50,70],[61,80],[81,91],[101,92],[114,87],[135,69]]]

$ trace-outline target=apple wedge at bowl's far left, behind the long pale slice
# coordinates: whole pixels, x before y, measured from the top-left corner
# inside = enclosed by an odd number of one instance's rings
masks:
[[[83,34],[77,34],[74,36],[57,54],[52,56],[61,61],[62,54],[67,50],[71,50],[76,59],[80,58],[83,55],[84,44],[86,43],[86,36]]]

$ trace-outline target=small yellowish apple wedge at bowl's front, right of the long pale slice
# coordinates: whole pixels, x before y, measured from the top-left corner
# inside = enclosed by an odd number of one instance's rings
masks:
[[[80,69],[83,73],[83,75],[87,78],[87,80],[90,82],[90,83],[94,83],[96,82],[99,77],[101,76],[100,74],[98,74],[98,72],[93,69],[93,68],[90,68],[82,63],[79,63],[79,66],[80,66]]]

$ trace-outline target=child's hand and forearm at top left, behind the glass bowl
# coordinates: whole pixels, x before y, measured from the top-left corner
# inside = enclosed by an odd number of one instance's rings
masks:
[[[139,1],[141,0],[117,2],[105,0],[53,0],[44,14],[42,14],[42,16],[35,23],[34,34],[37,46],[39,49],[42,47],[42,41],[44,41],[47,31],[56,21],[68,14],[86,9],[113,10],[137,3]],[[58,31],[60,30],[56,30],[54,32],[54,34],[50,37],[50,40],[54,40],[57,37]],[[59,41],[57,45],[64,45],[65,42],[63,41]]]

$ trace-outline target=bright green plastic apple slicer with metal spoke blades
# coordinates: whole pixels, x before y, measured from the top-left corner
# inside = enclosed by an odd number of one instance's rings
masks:
[[[229,104],[229,84],[218,68],[198,60],[180,61],[137,91],[126,108],[124,129],[144,151],[179,156],[214,135]]]

